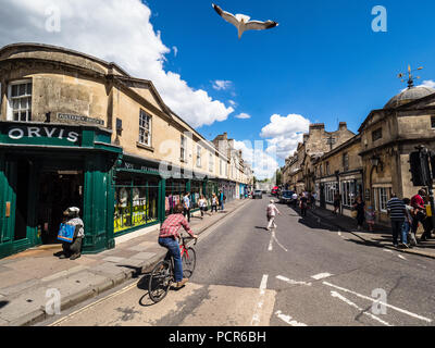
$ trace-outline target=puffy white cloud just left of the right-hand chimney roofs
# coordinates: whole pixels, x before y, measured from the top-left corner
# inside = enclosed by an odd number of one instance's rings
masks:
[[[261,129],[260,136],[266,138],[266,153],[276,153],[277,158],[286,159],[295,152],[298,142],[303,140],[303,134],[310,129],[310,120],[299,114],[281,116],[274,114],[271,122]]]

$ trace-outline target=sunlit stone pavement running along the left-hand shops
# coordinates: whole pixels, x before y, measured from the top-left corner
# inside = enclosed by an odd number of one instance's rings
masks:
[[[223,212],[204,217],[195,213],[190,226],[200,235],[222,219],[234,215],[249,200],[225,204]],[[157,243],[158,226],[116,238],[116,247],[98,254],[83,254],[71,261],[55,253],[61,245],[41,246],[0,260],[0,326],[29,326],[59,310],[96,297],[111,288],[150,272],[166,254]]]

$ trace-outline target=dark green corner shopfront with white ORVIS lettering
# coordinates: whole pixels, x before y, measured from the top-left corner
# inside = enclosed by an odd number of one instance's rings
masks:
[[[0,258],[55,244],[80,208],[84,253],[114,247],[113,172],[122,149],[98,126],[0,122]]]

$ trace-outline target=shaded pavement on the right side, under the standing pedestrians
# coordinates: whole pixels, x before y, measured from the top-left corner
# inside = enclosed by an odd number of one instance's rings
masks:
[[[389,227],[375,225],[373,232],[370,232],[369,229],[358,231],[355,219],[344,215],[334,215],[332,211],[319,207],[314,210],[309,210],[308,214],[313,219],[321,219],[321,221],[323,221],[324,223],[326,222],[328,224],[332,224],[343,232],[351,233],[352,235],[363,239],[365,243],[374,244],[378,247],[397,250],[405,253],[419,254],[422,257],[435,259],[435,239],[419,241],[419,238],[423,233],[423,228],[421,226],[419,226],[419,229],[417,232],[419,246],[412,247],[410,249],[402,249],[395,248],[393,246],[393,234]]]

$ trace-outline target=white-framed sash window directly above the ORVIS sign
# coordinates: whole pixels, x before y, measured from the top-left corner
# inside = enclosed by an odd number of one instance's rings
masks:
[[[32,121],[32,80],[11,83],[8,88],[8,120]]]

